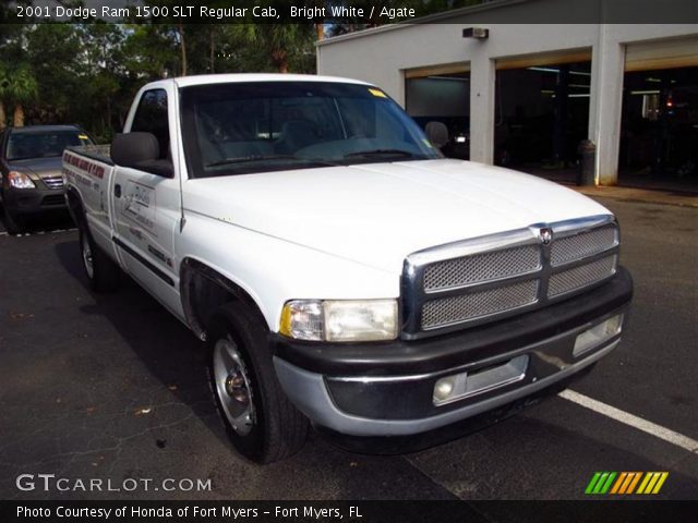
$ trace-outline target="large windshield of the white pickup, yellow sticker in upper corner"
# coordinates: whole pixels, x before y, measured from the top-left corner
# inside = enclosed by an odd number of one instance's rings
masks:
[[[181,89],[194,178],[441,158],[381,89],[325,82],[251,82]]]

